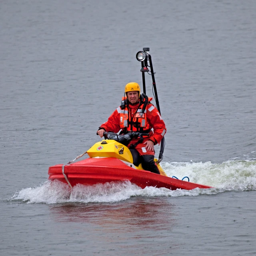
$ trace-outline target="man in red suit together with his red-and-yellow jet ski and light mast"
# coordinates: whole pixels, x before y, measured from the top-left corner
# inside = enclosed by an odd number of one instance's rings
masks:
[[[161,118],[149,48],[138,52],[136,59],[141,62],[142,94],[137,83],[126,84],[121,105],[97,131],[100,137],[104,136],[104,140],[96,142],[67,164],[50,166],[49,180],[67,183],[71,189],[77,184],[88,186],[109,182],[131,182],[141,188],[153,186],[171,190],[211,188],[184,181],[188,177],[182,180],[168,177],[162,170],[159,163],[163,159],[166,128]],[[156,107],[150,103],[152,98],[146,96],[145,73],[152,78]],[[156,144],[160,144],[158,160],[154,158]],[[75,162],[85,154],[89,158]]]

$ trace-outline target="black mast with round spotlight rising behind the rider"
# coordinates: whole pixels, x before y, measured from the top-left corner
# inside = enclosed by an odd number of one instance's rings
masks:
[[[151,55],[149,54],[149,48],[145,47],[145,48],[143,48],[142,51],[137,52],[136,59],[141,62],[140,71],[142,72],[142,83],[143,83],[143,92],[144,92],[144,94],[146,94],[145,72],[148,73],[149,72],[148,67],[150,67],[150,73],[151,73],[150,75],[152,77],[154,97],[155,97],[155,100],[156,100],[156,108],[159,111],[159,114],[161,115],[159,101],[158,101],[158,95],[157,95],[157,90],[156,90],[156,81],[155,81],[155,76],[154,76],[155,73],[154,73],[154,70],[153,70]],[[149,61],[149,65],[148,65],[148,61]],[[160,153],[159,153],[159,157],[158,157],[158,163],[160,163],[163,159],[164,145],[165,145],[165,141],[164,141],[164,137],[163,137],[162,140],[161,140],[161,145],[160,145]]]

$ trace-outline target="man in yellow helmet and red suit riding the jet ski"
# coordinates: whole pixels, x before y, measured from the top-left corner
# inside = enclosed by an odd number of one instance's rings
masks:
[[[135,149],[139,153],[145,170],[160,174],[154,162],[154,145],[160,144],[166,133],[164,121],[159,111],[150,103],[152,98],[140,94],[139,84],[128,83],[124,91],[126,97],[123,98],[121,106],[99,127],[97,134],[102,138],[104,132],[117,133],[120,130],[120,134],[149,133],[149,137],[133,139],[128,148]]]

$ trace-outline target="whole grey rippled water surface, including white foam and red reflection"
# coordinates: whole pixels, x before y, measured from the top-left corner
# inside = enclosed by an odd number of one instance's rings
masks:
[[[0,1],[0,254],[256,255],[255,31],[254,0]],[[48,182],[142,84],[143,47],[162,167],[214,188]]]

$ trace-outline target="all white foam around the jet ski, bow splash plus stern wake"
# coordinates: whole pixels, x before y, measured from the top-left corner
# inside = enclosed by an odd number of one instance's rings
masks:
[[[71,190],[67,184],[46,181],[34,188],[16,192],[11,200],[28,203],[56,204],[65,202],[101,203],[119,202],[132,196],[199,196],[218,194],[226,191],[256,190],[256,160],[229,160],[221,164],[211,162],[184,163],[163,162],[162,168],[170,177],[190,178],[190,182],[206,184],[214,188],[193,190],[169,190],[146,187],[144,189],[126,182],[110,182],[92,186],[76,185]]]

